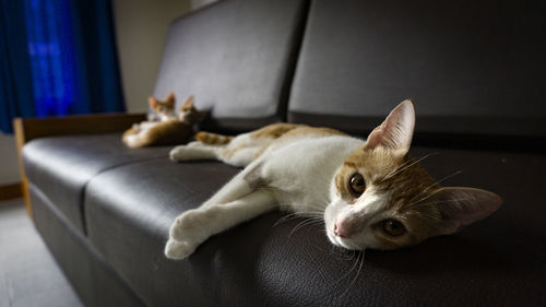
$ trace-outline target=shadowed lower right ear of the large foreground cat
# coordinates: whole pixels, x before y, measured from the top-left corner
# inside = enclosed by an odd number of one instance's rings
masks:
[[[435,235],[449,235],[494,213],[502,199],[486,190],[449,187],[439,189],[424,202],[440,210],[441,221]]]

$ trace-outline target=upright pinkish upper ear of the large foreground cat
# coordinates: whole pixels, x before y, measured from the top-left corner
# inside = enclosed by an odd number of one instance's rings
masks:
[[[415,127],[415,109],[410,99],[400,103],[368,135],[365,149],[372,150],[377,146],[395,151],[396,154],[405,155],[412,144],[413,130]]]

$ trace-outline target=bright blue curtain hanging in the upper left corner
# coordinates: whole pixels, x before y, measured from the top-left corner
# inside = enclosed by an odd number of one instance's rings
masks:
[[[124,110],[110,0],[1,1],[2,131],[16,116]]]

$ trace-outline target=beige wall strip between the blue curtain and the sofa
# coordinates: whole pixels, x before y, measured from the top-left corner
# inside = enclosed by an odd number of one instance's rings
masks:
[[[121,78],[129,113],[147,110],[167,26],[188,12],[190,0],[115,0],[114,17]]]

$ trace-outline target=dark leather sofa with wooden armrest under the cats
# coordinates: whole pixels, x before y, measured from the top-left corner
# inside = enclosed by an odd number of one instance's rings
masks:
[[[238,169],[127,149],[120,131],[143,116],[123,115],[16,122],[36,227],[87,306],[545,306],[545,7],[225,0],[170,25],[153,94],[195,95],[204,130],[364,137],[413,98],[412,154],[438,179],[463,170],[443,185],[505,200],[456,235],[357,261],[275,212],[170,261],[175,216]]]

